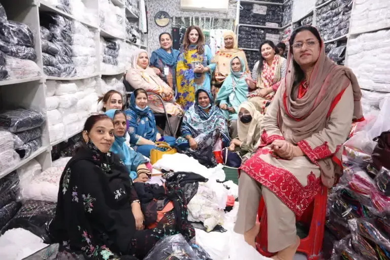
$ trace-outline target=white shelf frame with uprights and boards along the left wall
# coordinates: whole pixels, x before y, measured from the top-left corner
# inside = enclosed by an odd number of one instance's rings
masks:
[[[111,0],[115,6],[123,9],[123,17],[129,19],[138,19],[138,16],[133,14],[130,10],[125,8],[124,0]],[[0,3],[5,8],[7,17],[9,20],[14,20],[18,22],[25,23],[29,26],[31,31],[34,33],[35,46],[34,49],[37,53],[36,63],[41,69],[41,76],[32,77],[32,78],[23,78],[23,79],[9,79],[0,81],[0,104],[1,108],[13,107],[15,105],[21,106],[27,109],[40,110],[45,113],[46,122],[42,126],[42,147],[37,151],[32,153],[29,157],[20,160],[16,165],[3,170],[0,172],[0,178],[8,175],[9,173],[15,171],[21,166],[25,165],[31,159],[37,159],[42,166],[42,169],[45,170],[51,166],[51,148],[52,146],[59,144],[60,142],[67,141],[69,138],[80,133],[77,131],[71,133],[66,137],[61,138],[60,140],[50,143],[49,140],[49,128],[47,123],[46,115],[46,86],[45,83],[47,80],[61,80],[61,81],[74,81],[87,79],[91,77],[102,77],[102,76],[113,76],[120,78],[125,71],[119,69],[115,73],[105,73],[101,71],[100,67],[100,56],[101,56],[101,46],[100,46],[100,36],[110,38],[110,39],[120,39],[124,40],[123,37],[117,37],[111,35],[105,30],[99,28],[99,24],[92,24],[84,20],[78,19],[72,14],[63,12],[58,8],[51,6],[48,1],[45,0],[0,0]],[[98,0],[83,0],[83,3],[89,13],[95,14],[96,18],[99,18],[99,1]],[[42,45],[41,45],[41,35],[40,35],[40,13],[42,12],[52,12],[67,17],[74,21],[79,21],[85,26],[89,27],[92,31],[95,31],[95,43],[96,43],[96,66],[95,72],[91,75],[86,75],[82,77],[69,77],[69,78],[60,78],[60,77],[51,77],[43,74],[43,62],[42,62]],[[98,22],[99,19],[96,19]],[[125,31],[123,24],[123,31]],[[129,43],[129,41],[126,41]],[[124,42],[123,42],[124,43]],[[138,48],[147,48],[146,45],[141,44],[132,44]],[[98,84],[100,81],[98,81]],[[100,87],[100,85],[99,85]]]

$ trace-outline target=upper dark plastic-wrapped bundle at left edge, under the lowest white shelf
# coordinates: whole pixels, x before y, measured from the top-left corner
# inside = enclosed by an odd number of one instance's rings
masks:
[[[12,172],[0,179],[0,208],[15,201],[19,195],[19,177]]]

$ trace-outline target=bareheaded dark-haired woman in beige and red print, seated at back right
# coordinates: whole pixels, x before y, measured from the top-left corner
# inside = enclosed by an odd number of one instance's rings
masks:
[[[254,64],[252,79],[246,78],[249,86],[248,100],[252,102],[262,115],[278,89],[281,79],[286,74],[286,59],[281,57],[272,41],[264,41],[260,45],[260,59]]]

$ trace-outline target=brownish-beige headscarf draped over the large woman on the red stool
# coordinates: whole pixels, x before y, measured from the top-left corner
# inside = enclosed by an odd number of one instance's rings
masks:
[[[281,84],[280,109],[288,116],[281,118],[279,113],[279,123],[285,124],[291,129],[289,138],[294,143],[309,138],[313,133],[320,132],[327,123],[329,112],[336,96],[342,93],[349,84],[353,90],[353,118],[361,120],[363,118],[360,89],[358,80],[352,71],[344,66],[334,63],[325,53],[322,43],[320,54],[315,63],[313,72],[309,79],[309,86],[306,94],[298,99],[298,87],[294,86],[295,69],[293,66],[293,55],[289,52],[287,57],[287,73]],[[279,127],[282,127],[281,125]],[[311,144],[311,147],[321,145]],[[342,143],[335,143],[334,146],[341,146]],[[343,149],[339,149],[335,156],[341,161]],[[327,187],[334,184],[334,174],[342,174],[342,169],[332,164],[331,158],[317,161],[321,169],[322,183]]]

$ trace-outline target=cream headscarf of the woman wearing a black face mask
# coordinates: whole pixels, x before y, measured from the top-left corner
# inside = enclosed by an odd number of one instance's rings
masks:
[[[238,107],[238,112],[244,108],[249,111],[249,114],[252,116],[252,121],[248,124],[244,124],[240,121],[240,119],[237,120],[237,132],[238,132],[238,139],[241,142],[244,142],[247,146],[250,146],[253,142],[257,142],[258,140],[254,139],[254,132],[259,131],[258,124],[262,121],[263,115],[256,110],[256,107],[249,101],[245,101],[241,103],[241,105]]]

